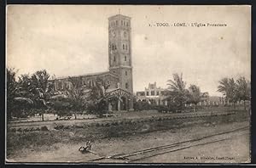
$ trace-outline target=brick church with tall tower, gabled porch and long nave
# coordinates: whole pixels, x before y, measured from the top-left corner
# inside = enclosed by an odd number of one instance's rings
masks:
[[[101,78],[109,86],[106,91],[109,110],[133,109],[132,60],[131,60],[131,18],[122,14],[108,18],[108,65],[105,72],[77,77],[82,85]],[[71,87],[68,77],[54,80],[55,90],[64,91]]]

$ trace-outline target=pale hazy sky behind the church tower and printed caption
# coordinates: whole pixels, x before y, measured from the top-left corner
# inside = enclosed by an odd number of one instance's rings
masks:
[[[134,92],[154,81],[166,88],[173,73],[212,96],[221,96],[223,77],[250,79],[249,6],[11,5],[7,67],[18,76],[42,69],[56,77],[107,71],[108,17],[119,12],[131,17]],[[183,22],[189,26],[149,26]]]

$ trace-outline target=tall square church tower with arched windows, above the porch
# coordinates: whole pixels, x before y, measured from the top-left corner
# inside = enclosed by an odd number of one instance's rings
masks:
[[[117,14],[108,18],[109,71],[119,75],[120,88],[133,94],[131,66],[131,18]]]

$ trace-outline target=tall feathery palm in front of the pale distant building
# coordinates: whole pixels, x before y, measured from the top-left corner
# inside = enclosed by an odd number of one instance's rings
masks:
[[[168,89],[172,92],[169,98],[177,103],[178,109],[183,109],[184,104],[188,100],[189,91],[186,89],[186,82],[183,81],[183,74],[173,74],[173,80],[167,81]]]

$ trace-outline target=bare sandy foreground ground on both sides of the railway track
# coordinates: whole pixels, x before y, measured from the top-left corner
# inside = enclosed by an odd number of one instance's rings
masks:
[[[131,153],[143,148],[152,148],[170,143],[177,143],[195,137],[203,137],[217,132],[229,131],[231,129],[248,126],[247,121],[229,123],[208,122],[195,124],[194,126],[183,126],[164,131],[148,132],[125,137],[100,138],[94,142],[93,151],[96,154],[105,156],[121,153]],[[143,124],[143,129],[150,129],[150,125]],[[70,132],[72,136],[73,132]],[[164,163],[164,162],[248,162],[249,161],[249,131],[235,132],[230,135],[229,140],[219,143],[207,144],[195,148],[186,148],[174,153],[161,154],[140,162]],[[96,154],[81,154],[79,147],[84,142],[77,143],[54,143],[49,150],[33,150],[25,148],[20,154],[9,155],[9,161],[17,162],[86,162],[98,157]],[[47,148],[47,147],[43,147]],[[218,156],[219,160],[195,159],[201,157]],[[229,159],[222,159],[229,157]],[[186,158],[186,159],[185,159]],[[189,159],[188,159],[189,158]],[[191,159],[194,158],[194,159]],[[103,160],[104,162],[124,162],[125,160]]]

